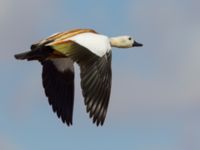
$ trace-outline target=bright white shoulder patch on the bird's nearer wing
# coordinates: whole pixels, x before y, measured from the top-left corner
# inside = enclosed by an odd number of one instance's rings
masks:
[[[99,57],[102,57],[111,50],[110,40],[107,36],[104,35],[95,33],[81,33],[70,37],[67,40],[72,40],[80,44]]]

